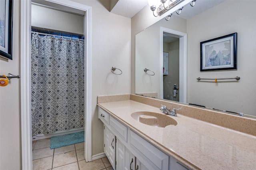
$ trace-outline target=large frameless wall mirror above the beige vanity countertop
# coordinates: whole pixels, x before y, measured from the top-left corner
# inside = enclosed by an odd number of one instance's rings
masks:
[[[197,0],[194,7],[184,6],[180,15],[173,14],[169,21],[162,19],[136,34],[135,93],[255,118],[254,6],[256,1],[251,0]],[[235,32],[237,69],[200,71],[200,42]],[[181,48],[184,40],[185,49]],[[145,68],[155,75],[146,74]],[[240,80],[197,80],[236,76]]]

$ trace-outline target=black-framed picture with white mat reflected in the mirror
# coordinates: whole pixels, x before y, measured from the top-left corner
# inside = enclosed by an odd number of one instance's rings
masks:
[[[200,42],[200,71],[237,69],[237,33]]]

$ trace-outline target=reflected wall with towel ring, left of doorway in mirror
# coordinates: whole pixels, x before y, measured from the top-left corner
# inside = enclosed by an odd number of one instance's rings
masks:
[[[158,34],[157,34],[158,33]],[[136,35],[136,79],[135,93],[157,93],[158,98],[161,97],[161,77],[160,70],[160,26],[154,25]],[[144,72],[144,68],[150,69]]]

